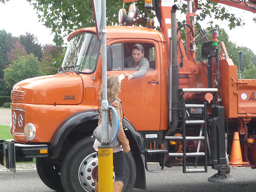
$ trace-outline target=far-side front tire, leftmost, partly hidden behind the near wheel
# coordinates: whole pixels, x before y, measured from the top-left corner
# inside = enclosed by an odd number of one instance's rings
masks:
[[[58,192],[64,191],[60,180],[60,170],[46,158],[36,158],[38,176],[49,188]]]

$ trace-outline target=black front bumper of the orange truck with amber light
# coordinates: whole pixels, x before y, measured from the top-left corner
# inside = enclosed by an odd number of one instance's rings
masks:
[[[30,145],[0,139],[0,163],[12,172],[16,172],[16,162],[37,157],[49,157],[47,144]]]

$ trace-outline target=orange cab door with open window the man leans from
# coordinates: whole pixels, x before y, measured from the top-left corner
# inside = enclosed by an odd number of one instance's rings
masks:
[[[137,69],[124,66],[124,59],[131,56],[136,43],[144,47],[144,56],[150,62],[150,69],[140,78],[122,80],[121,94],[124,116],[137,131],[159,130],[161,115],[161,81],[158,50],[154,43],[126,42],[112,45],[113,70],[108,75],[132,74]],[[157,45],[157,44],[156,44]]]

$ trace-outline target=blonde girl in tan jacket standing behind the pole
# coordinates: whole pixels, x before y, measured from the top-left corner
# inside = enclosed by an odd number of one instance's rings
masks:
[[[121,92],[121,82],[118,76],[108,76],[107,77],[107,95],[108,101],[111,106],[114,106],[118,113],[119,117],[119,132],[117,139],[121,142],[120,146],[113,148],[113,165],[115,170],[115,181],[114,181],[114,192],[121,192],[123,188],[124,178],[125,178],[125,161],[124,153],[127,153],[131,150],[129,145],[129,140],[126,138],[122,120],[123,120],[123,110],[121,106],[121,100],[118,98],[118,95]],[[99,121],[98,125],[101,123],[101,101],[102,101],[102,86],[99,92]],[[112,111],[109,114],[109,122],[112,121]],[[93,147],[98,151],[98,146],[100,142],[95,139]],[[95,192],[98,191],[98,182],[95,182]]]

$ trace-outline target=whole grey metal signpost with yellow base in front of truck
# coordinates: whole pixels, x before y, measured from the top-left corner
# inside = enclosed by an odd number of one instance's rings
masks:
[[[113,146],[109,140],[109,102],[106,83],[106,1],[101,2],[101,36],[102,36],[102,102],[101,102],[101,124],[102,138],[101,146],[98,147],[98,177],[99,191],[113,191]]]

